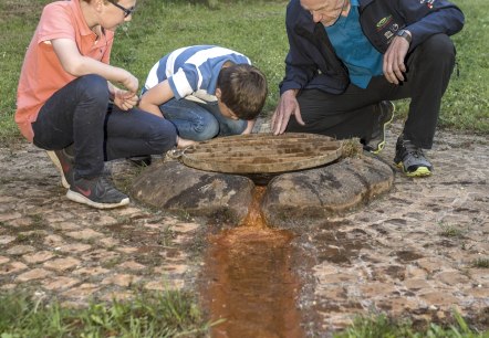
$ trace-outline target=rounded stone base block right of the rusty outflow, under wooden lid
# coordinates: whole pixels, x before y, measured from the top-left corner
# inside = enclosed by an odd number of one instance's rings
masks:
[[[393,181],[394,172],[384,162],[366,156],[346,158],[274,178],[268,184],[261,210],[270,225],[309,228],[365,205],[388,191]]]

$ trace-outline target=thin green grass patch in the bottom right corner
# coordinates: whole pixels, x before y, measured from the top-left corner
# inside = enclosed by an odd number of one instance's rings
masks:
[[[427,328],[416,328],[409,320],[394,320],[385,315],[357,317],[354,324],[335,338],[487,338],[487,332],[478,332],[467,325],[458,313],[454,313],[455,323],[450,326],[429,324]]]

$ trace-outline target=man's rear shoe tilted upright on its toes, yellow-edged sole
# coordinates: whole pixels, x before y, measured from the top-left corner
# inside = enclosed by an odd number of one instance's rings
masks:
[[[395,106],[391,101],[382,101],[375,107],[377,115],[375,116],[374,128],[372,137],[363,147],[372,154],[378,154],[385,146],[385,130],[394,118]]]

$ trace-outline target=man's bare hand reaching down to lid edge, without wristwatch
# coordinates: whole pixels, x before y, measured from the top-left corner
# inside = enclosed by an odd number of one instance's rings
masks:
[[[280,135],[285,131],[291,115],[295,116],[298,124],[302,126],[305,125],[302,120],[298,99],[295,98],[296,94],[298,89],[289,89],[283,92],[280,96],[279,104],[277,105],[271,120],[273,135]]]

